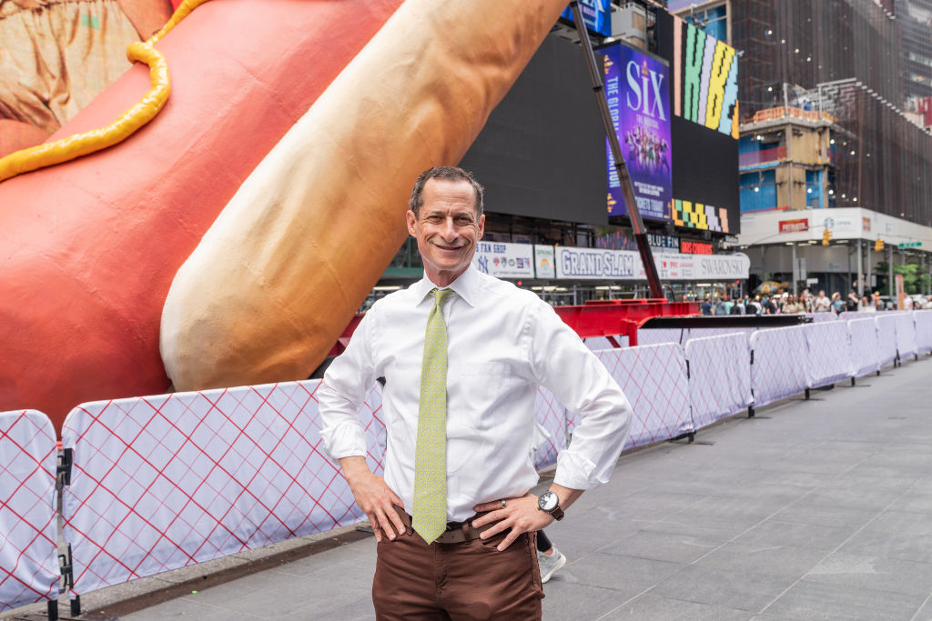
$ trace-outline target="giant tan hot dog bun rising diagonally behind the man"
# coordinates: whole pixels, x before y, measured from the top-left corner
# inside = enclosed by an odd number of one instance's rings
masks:
[[[418,173],[459,162],[564,7],[407,0],[175,276],[160,341],[175,388],[308,377],[400,247]]]

